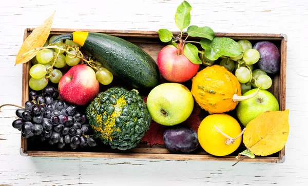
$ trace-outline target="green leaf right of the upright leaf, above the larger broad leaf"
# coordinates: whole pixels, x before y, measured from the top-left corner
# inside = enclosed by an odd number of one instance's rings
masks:
[[[203,37],[209,40],[213,40],[215,37],[215,32],[209,27],[198,27],[192,25],[187,28],[186,32],[191,37]]]

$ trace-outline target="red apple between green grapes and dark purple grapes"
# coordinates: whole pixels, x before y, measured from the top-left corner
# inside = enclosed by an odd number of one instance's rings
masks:
[[[84,106],[99,94],[100,84],[91,67],[76,65],[59,81],[60,96],[71,104]]]

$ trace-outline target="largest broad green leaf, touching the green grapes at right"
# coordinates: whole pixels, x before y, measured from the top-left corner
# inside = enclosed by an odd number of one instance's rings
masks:
[[[214,37],[213,40],[202,38],[201,47],[204,55],[209,60],[217,60],[220,56],[235,57],[243,53],[243,50],[235,40],[227,37]]]

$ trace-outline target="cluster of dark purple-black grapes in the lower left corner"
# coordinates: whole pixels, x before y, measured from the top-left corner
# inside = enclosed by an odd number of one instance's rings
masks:
[[[59,92],[51,86],[44,88],[41,94],[37,93],[30,91],[25,109],[16,110],[19,118],[12,126],[22,132],[23,138],[39,136],[59,149],[66,145],[72,150],[97,146],[85,114],[75,105],[57,99]]]

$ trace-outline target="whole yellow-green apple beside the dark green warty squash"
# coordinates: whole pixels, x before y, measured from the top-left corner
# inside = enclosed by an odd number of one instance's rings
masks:
[[[194,98],[184,85],[166,82],[150,91],[146,105],[154,121],[174,126],[189,117],[194,109]]]

